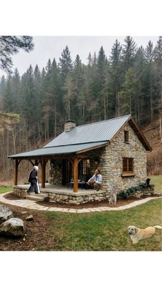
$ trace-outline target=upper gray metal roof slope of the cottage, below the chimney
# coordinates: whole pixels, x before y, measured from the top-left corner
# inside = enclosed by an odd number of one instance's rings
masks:
[[[44,148],[111,140],[129,118],[130,114],[120,116],[119,118],[112,118],[108,121],[74,127],[69,132],[62,132],[62,134],[45,145]]]

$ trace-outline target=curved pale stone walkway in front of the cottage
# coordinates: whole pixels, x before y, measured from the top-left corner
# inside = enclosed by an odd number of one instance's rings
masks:
[[[28,208],[31,210],[47,210],[47,211],[58,211],[58,212],[73,212],[73,213],[84,213],[84,212],[101,212],[101,211],[111,211],[111,210],[126,210],[128,208],[134,208],[137,205],[146,203],[151,199],[160,199],[162,197],[148,197],[146,199],[141,199],[139,201],[134,201],[130,204],[120,206],[119,208],[109,208],[109,207],[98,207],[98,208],[82,208],[82,209],[74,209],[74,208],[48,208],[47,206],[42,206],[36,203],[34,200],[30,199],[17,199],[10,200],[5,199],[4,195],[10,192],[5,192],[0,195],[0,201],[6,204],[19,206],[21,208]]]

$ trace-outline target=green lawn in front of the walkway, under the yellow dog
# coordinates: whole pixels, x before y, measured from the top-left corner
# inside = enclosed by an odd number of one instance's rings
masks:
[[[123,211],[71,214],[45,212],[51,219],[54,250],[63,251],[162,251],[162,232],[133,245],[127,227],[162,225],[161,199]]]

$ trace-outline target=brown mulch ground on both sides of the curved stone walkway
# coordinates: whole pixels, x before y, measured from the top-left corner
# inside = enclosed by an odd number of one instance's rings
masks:
[[[11,201],[19,199],[12,193],[5,195]],[[144,197],[142,197],[144,198]],[[110,205],[108,201],[101,201],[99,203],[84,203],[83,205],[62,205],[52,202],[39,202],[38,204],[49,207],[62,207],[62,208],[94,208],[101,206],[119,207],[126,205],[139,199],[127,199],[117,201],[116,205]],[[0,202],[0,205],[4,203]],[[0,236],[0,251],[51,251],[59,249],[59,242],[54,235],[50,233],[51,220],[47,219],[43,212],[35,210],[27,210],[14,205],[5,204],[12,210],[13,216],[23,220],[24,223],[24,236],[23,238],[4,238]],[[26,217],[31,215],[34,221],[26,221]],[[56,223],[57,224],[57,223]]]

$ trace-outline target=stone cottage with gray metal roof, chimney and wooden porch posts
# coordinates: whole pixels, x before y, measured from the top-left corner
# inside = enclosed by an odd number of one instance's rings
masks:
[[[145,182],[148,151],[152,151],[148,140],[129,114],[78,127],[73,121],[67,121],[65,132],[43,149],[9,158],[15,160],[15,185],[19,162],[30,160],[41,165],[45,188],[45,166],[49,160],[50,184],[67,186],[72,178],[73,192],[78,192],[80,181],[89,179],[98,168],[103,177],[100,192],[110,193],[113,186],[122,190]]]

